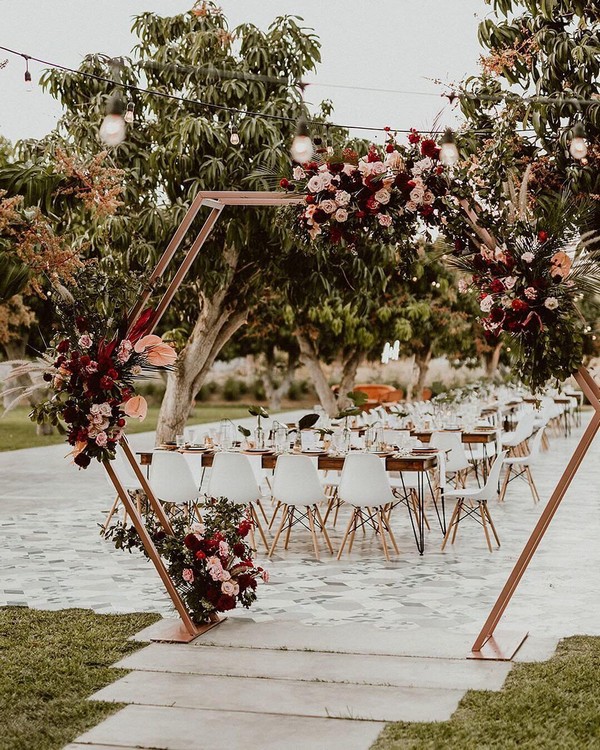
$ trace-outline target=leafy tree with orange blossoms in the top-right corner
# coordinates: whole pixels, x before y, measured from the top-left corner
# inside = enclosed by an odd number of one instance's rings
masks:
[[[468,126],[490,131],[499,115],[510,123],[504,145],[513,168],[528,171],[537,210],[551,210],[568,189],[595,202],[600,218],[600,10],[596,0],[488,0],[494,16],[479,26],[487,54],[480,76],[467,79],[460,105]],[[508,89],[507,86],[512,87]],[[514,93],[519,86],[523,100]],[[577,161],[569,143],[584,127],[588,154]],[[522,132],[532,129],[532,133]],[[533,136],[533,137],[531,137]],[[463,142],[476,151],[483,136]]]

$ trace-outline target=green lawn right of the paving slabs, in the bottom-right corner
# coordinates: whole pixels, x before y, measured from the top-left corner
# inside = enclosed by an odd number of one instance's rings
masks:
[[[575,636],[547,662],[516,664],[502,690],[469,691],[450,721],[390,724],[371,750],[600,748],[600,638]]]

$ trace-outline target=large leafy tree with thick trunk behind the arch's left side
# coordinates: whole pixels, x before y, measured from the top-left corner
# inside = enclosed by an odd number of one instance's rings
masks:
[[[251,24],[229,30],[209,2],[171,18],[144,13],[133,30],[139,38],[135,60],[119,61],[120,80],[137,85],[145,79],[155,91],[206,105],[130,92],[136,124],[112,150],[124,170],[126,205],[93,238],[120,273],[156,262],[199,190],[264,188],[259,169],[282,171],[293,121],[305,111],[297,84],[319,60],[316,37],[296,18],[278,18],[267,32]],[[95,55],[80,69],[108,76],[115,64]],[[56,71],[45,75],[44,85],[66,109],[57,135],[80,153],[94,152],[109,88]],[[223,105],[242,113],[232,117]],[[230,143],[233,125],[239,146]],[[188,248],[186,239],[182,251]],[[181,432],[215,357],[245,323],[281,254],[271,210],[230,208],[221,218],[164,321],[167,328],[183,328],[187,340],[167,384],[157,440]]]

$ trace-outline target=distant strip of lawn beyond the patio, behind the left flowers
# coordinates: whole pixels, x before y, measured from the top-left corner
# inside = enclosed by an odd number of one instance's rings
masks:
[[[300,408],[300,404],[292,408]],[[36,435],[35,424],[30,421],[29,407],[20,406],[0,416],[0,451],[13,451],[19,448],[38,448],[43,445],[63,443],[63,435]],[[244,404],[197,404],[188,420],[188,424],[215,422],[224,417],[241,419],[248,416],[248,407]],[[156,429],[158,406],[148,409],[148,416],[143,422],[129,420],[127,434],[149,432]]]

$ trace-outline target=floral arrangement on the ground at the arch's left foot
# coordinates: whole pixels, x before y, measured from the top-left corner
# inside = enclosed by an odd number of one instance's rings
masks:
[[[259,581],[269,575],[253,560],[247,537],[253,522],[243,506],[226,498],[208,501],[202,523],[188,525],[187,517],[171,519],[173,534],[167,534],[154,518],[146,521],[158,553],[186,604],[192,619],[207,622],[217,612],[238,604],[250,607],[257,598]],[[105,535],[117,549],[138,549],[148,556],[133,526],[117,524]]]

